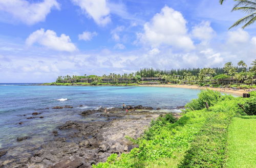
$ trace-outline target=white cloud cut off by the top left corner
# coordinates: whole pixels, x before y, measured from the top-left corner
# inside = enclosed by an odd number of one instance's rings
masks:
[[[26,24],[44,21],[52,8],[60,9],[56,0],[45,0],[41,3],[29,3],[25,0],[1,0],[0,11],[10,15],[9,19],[16,19]]]

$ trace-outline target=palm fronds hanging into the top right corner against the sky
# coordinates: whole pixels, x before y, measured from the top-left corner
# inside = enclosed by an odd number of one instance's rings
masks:
[[[225,0],[220,0],[220,4],[223,4],[224,1]],[[237,1],[238,3],[233,7],[231,12],[242,11],[242,12],[248,13],[248,15],[234,22],[234,24],[231,25],[229,29],[231,29],[232,27],[236,27],[239,24],[245,23],[242,26],[242,28],[244,29],[246,26],[256,21],[256,0],[234,0],[234,1]]]

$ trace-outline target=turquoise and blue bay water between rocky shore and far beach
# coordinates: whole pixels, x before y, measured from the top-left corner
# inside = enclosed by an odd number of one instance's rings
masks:
[[[104,120],[82,117],[86,109],[143,105],[174,109],[197,98],[199,90],[159,87],[71,87],[0,85],[0,148],[47,142],[52,130],[66,121]],[[67,99],[59,101],[58,99]],[[74,108],[52,109],[71,105]],[[82,105],[82,106],[80,106]],[[47,109],[49,108],[49,109]],[[44,118],[32,117],[34,112]],[[19,125],[19,122],[23,122]],[[16,142],[16,137],[29,135],[29,141]]]

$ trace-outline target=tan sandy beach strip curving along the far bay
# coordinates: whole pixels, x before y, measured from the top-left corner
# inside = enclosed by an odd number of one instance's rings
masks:
[[[229,93],[237,96],[243,96],[243,93],[248,93],[245,89],[233,90],[230,88],[210,88],[210,87],[200,87],[195,85],[139,85],[140,87],[167,87],[167,88],[187,88],[187,89],[210,89],[214,91],[219,91],[222,93]]]

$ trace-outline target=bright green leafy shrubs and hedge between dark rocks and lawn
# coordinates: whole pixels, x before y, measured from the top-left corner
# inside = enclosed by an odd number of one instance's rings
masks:
[[[202,91],[179,120],[172,115],[159,117],[142,137],[132,139],[138,148],[93,167],[225,167],[228,127],[233,117],[244,115],[238,104],[246,100]]]

